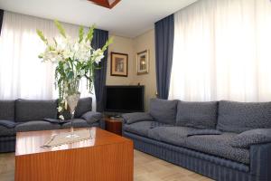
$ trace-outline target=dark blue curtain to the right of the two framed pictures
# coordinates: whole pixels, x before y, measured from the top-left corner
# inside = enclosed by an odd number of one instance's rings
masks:
[[[167,100],[173,66],[174,14],[155,23],[157,97]]]

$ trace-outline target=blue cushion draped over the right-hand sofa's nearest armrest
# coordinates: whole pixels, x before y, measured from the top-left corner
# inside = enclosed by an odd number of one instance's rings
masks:
[[[230,145],[236,148],[249,148],[250,145],[271,143],[271,129],[251,129],[232,138]]]

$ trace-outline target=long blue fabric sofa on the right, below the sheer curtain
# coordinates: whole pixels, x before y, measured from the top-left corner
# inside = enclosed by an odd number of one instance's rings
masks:
[[[271,102],[150,102],[123,115],[135,149],[221,181],[271,180]]]

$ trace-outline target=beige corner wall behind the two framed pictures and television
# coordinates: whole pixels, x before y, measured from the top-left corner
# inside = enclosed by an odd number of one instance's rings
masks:
[[[149,50],[150,53],[149,73],[137,75],[136,52],[145,50]],[[111,52],[128,54],[128,77],[110,76]],[[108,48],[107,85],[137,85],[137,83],[145,85],[145,110],[148,110],[149,100],[155,97],[156,92],[154,30],[141,34],[134,39],[114,35],[114,43]]]

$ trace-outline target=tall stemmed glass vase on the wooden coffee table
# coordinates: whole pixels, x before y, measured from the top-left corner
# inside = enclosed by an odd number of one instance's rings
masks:
[[[77,107],[78,101],[79,101],[80,93],[74,93],[71,95],[68,95],[66,97],[67,104],[69,106],[70,110],[70,134],[66,136],[66,138],[78,138],[79,135],[76,135],[73,130],[73,119],[74,119],[74,112]]]

